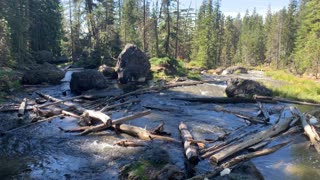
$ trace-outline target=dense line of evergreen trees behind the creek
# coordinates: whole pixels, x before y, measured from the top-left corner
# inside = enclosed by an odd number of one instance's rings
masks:
[[[0,64],[28,62],[41,50],[112,64],[134,43],[150,57],[204,68],[270,64],[318,74],[319,0],[291,0],[265,19],[255,10],[226,17],[220,6],[220,0],[204,0],[198,10],[179,0],[2,0]]]

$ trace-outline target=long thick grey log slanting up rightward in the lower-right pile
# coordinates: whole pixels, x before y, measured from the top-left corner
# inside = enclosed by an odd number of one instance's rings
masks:
[[[222,161],[223,159],[247,148],[254,144],[257,144],[267,138],[273,137],[278,135],[279,133],[285,131],[291,121],[296,117],[298,110],[294,107],[285,108],[283,112],[281,113],[279,122],[273,126],[271,126],[268,129],[265,129],[259,133],[256,133],[254,135],[249,136],[245,141],[234,144],[228,148],[223,149],[222,151],[219,151],[218,153],[212,155],[210,157],[210,160],[218,163]]]

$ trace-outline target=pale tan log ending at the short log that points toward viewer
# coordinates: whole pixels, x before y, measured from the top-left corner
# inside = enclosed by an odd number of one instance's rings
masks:
[[[143,129],[141,127],[137,127],[137,126],[131,126],[127,124],[117,124],[117,125],[113,125],[112,127],[114,127],[117,131],[124,132],[134,137],[138,137],[142,140],[147,140],[147,141],[162,140],[162,141],[180,143],[180,141],[177,141],[171,137],[151,134],[148,130]]]

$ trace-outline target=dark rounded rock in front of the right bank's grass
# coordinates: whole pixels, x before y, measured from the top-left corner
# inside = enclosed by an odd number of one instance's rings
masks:
[[[272,94],[271,90],[259,82],[240,78],[228,80],[225,91],[228,97],[271,96]]]

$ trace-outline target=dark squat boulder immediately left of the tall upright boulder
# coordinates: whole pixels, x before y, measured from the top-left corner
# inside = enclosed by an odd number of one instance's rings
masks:
[[[97,70],[84,70],[71,75],[70,89],[72,92],[81,93],[90,89],[103,89],[107,87],[107,80]]]

